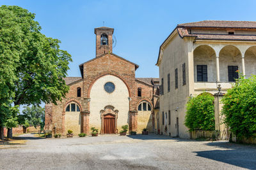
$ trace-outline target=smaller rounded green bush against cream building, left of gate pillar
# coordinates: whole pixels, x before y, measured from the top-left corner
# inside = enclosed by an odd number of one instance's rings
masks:
[[[196,97],[191,97],[187,104],[184,124],[189,131],[214,131],[214,97],[206,92]]]

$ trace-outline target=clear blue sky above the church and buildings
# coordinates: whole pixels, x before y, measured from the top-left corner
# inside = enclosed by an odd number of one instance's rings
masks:
[[[115,29],[113,53],[140,67],[136,77],[158,77],[159,46],[180,23],[200,20],[256,20],[256,1],[70,1],[0,0],[36,14],[42,32],[61,40],[73,62],[68,76],[81,76],[78,65],[95,57],[94,28]]]

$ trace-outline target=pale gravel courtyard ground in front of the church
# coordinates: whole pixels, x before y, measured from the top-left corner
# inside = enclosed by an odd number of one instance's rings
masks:
[[[256,146],[166,136],[28,139],[0,147],[0,169],[256,169]]]

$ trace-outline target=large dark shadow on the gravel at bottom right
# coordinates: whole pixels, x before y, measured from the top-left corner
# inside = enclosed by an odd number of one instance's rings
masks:
[[[256,169],[256,146],[236,143],[214,142],[208,146],[217,146],[227,150],[207,150],[194,152],[198,157],[212,159],[247,169]]]

